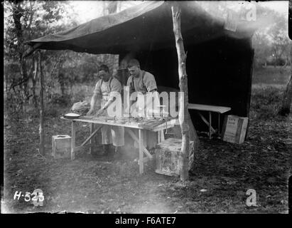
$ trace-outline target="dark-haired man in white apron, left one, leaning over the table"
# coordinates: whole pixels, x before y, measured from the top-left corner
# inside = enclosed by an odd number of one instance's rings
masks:
[[[94,88],[94,94],[90,103],[90,110],[87,115],[94,114],[94,107],[97,105],[99,110],[96,115],[108,115],[107,108],[111,105],[115,96],[121,93],[121,83],[117,78],[113,78],[109,74],[109,68],[106,65],[99,67],[99,76],[101,79],[97,81]],[[113,144],[116,147],[124,146],[124,128],[118,126],[104,125],[102,127],[102,145],[104,145],[104,152],[109,151],[109,145]]]

